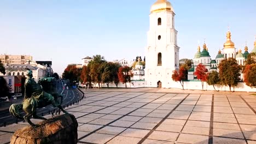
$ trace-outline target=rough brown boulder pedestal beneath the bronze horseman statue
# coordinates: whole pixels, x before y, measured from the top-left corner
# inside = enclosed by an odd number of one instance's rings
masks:
[[[25,127],[15,131],[11,144],[77,143],[77,119],[71,114],[49,118],[36,127]]]

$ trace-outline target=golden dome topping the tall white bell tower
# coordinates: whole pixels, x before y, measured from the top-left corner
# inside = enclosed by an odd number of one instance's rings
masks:
[[[158,13],[160,11],[173,11],[172,4],[166,0],[158,0],[156,1],[150,9],[150,13]]]

